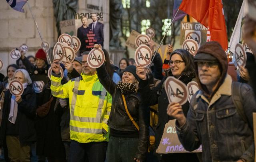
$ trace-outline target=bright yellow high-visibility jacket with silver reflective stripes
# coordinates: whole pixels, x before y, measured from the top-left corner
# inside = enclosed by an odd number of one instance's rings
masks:
[[[80,143],[108,141],[112,97],[97,74],[84,75],[61,85],[60,75],[52,73],[52,95],[69,98],[70,139]]]

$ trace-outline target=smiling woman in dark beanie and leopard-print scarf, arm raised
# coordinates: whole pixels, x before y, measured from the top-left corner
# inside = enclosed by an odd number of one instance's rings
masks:
[[[94,48],[101,46],[94,45]],[[112,95],[112,107],[107,122],[110,127],[107,161],[143,162],[148,151],[149,109],[143,108],[141,104],[138,91],[140,78],[136,75],[136,67],[126,67],[118,84],[106,73],[104,64],[97,69],[97,74],[100,83]],[[135,123],[128,116],[125,105]]]

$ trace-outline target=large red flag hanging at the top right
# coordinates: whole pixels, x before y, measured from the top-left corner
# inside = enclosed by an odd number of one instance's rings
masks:
[[[182,0],[179,9],[208,28],[207,41],[218,41],[228,49],[222,0]]]

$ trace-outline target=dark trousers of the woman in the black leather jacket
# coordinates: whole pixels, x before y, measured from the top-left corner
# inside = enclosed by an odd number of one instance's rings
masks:
[[[138,150],[138,138],[110,136],[108,141],[107,162],[134,162]]]

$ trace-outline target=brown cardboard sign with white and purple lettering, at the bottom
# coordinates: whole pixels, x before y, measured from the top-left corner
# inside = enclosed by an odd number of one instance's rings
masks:
[[[164,133],[161,138],[160,144],[156,149],[156,153],[159,154],[171,154],[171,153],[188,153],[189,151],[180,143],[176,132],[176,120],[170,120],[165,124]],[[192,151],[192,152],[202,152],[202,145]]]

